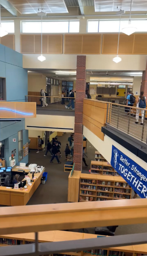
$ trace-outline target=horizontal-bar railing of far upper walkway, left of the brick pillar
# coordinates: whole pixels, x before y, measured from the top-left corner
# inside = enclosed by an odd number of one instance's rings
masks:
[[[75,98],[26,95],[25,101],[36,102],[36,114],[38,115],[74,116]]]

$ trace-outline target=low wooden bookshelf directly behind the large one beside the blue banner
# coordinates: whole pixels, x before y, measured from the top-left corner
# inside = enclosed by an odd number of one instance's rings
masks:
[[[120,177],[119,173],[109,163],[103,161],[91,161],[91,174]]]

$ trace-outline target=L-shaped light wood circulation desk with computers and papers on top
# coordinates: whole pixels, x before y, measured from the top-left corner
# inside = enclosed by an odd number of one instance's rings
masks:
[[[20,167],[21,168],[21,167]],[[23,167],[22,167],[23,168]],[[13,172],[19,172],[16,166],[12,169]],[[32,185],[28,185],[27,189],[20,190],[20,189],[12,189],[7,187],[0,187],[0,205],[8,205],[8,206],[18,206],[18,205],[26,205],[27,202],[30,200],[31,196],[34,194],[35,190],[41,183],[41,177],[43,172],[34,173],[34,176],[37,177]],[[28,172],[28,176],[32,179],[32,174],[30,170],[26,170]]]

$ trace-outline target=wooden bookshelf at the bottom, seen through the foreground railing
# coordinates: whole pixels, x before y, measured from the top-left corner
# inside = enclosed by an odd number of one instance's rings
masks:
[[[95,234],[86,234],[70,231],[45,231],[38,232],[38,242],[59,242],[59,241],[70,241],[78,239],[91,239],[97,238]],[[11,244],[11,241],[13,243]],[[18,244],[28,244],[35,243],[35,234],[34,233],[24,233],[24,234],[12,234],[12,235],[2,235],[0,236],[0,246],[13,246],[14,240],[16,245]],[[1,243],[2,242],[2,243]],[[5,243],[6,242],[6,243]],[[9,244],[10,243],[10,244]],[[116,248],[105,248],[105,249],[93,249],[88,251],[78,251],[78,252],[68,252],[60,254],[52,254],[52,256],[60,255],[73,255],[73,256],[140,256],[147,254],[147,244],[138,244],[133,246],[123,246]]]

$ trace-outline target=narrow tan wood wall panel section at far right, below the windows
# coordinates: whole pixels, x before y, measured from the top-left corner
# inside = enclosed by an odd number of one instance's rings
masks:
[[[135,34],[133,54],[147,54],[147,34]]]

